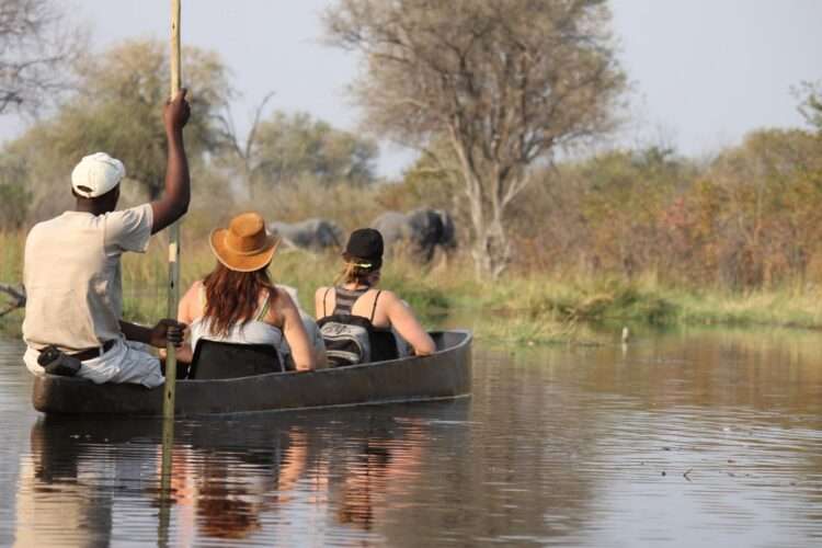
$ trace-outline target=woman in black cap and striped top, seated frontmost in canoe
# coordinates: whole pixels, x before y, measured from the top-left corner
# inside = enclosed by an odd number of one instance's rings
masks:
[[[383,236],[377,230],[354,230],[343,252],[345,269],[340,283],[317,289],[317,319],[332,366],[398,357],[393,331],[418,356],[436,350],[409,306],[392,292],[376,288],[383,251]]]

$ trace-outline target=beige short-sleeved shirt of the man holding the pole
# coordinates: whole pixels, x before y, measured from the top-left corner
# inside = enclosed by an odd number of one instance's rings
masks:
[[[66,212],[38,222],[25,241],[23,339],[41,350],[100,346],[121,336],[119,256],[145,252],[152,212],[145,204],[94,216]]]

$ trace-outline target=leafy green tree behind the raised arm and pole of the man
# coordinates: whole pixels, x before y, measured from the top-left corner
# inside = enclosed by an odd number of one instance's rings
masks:
[[[231,88],[216,53],[183,50],[192,118],[185,128],[189,158],[226,144],[222,113]],[[49,123],[47,139],[61,158],[78,161],[104,150],[123,160],[127,176],[155,199],[163,189],[165,134],[160,107],[169,96],[168,53],[156,41],[129,41],[78,67],[80,91]]]

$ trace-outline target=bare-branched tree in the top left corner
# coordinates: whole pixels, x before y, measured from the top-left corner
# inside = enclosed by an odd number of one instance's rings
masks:
[[[0,2],[0,114],[35,112],[65,92],[85,36],[52,0]]]

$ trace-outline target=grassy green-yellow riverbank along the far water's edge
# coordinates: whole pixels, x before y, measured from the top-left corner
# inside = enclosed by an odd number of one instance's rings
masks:
[[[0,233],[0,282],[22,279],[23,239],[22,235]],[[156,239],[146,255],[124,256],[126,318],[150,322],[165,316],[168,265],[161,240]],[[187,243],[183,248],[183,290],[213,266],[214,258],[204,242]],[[300,304],[311,312],[315,289],[332,283],[340,266],[334,254],[281,250],[271,274],[276,283],[296,287]],[[470,319],[478,336],[512,342],[584,339],[589,333],[581,326],[603,321],[822,328],[822,288],[809,284],[742,293],[674,287],[651,274],[629,281],[579,272],[516,271],[492,284],[478,282],[464,256],[431,267],[388,261],[383,285],[408,300],[429,326],[456,315]],[[0,330],[13,334],[21,320],[22,313],[13,312],[0,319]]]

